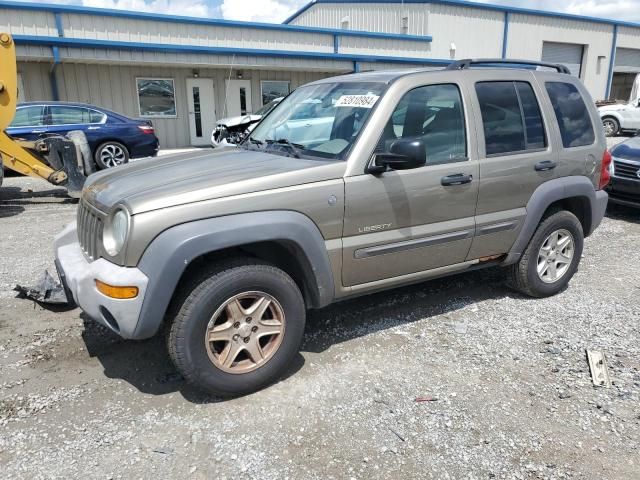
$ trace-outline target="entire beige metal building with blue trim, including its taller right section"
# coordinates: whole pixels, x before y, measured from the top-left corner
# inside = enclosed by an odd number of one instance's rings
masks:
[[[206,145],[216,119],[317,78],[510,57],[564,63],[596,99],[628,96],[640,25],[459,0],[316,0],[285,24],[0,0],[23,100],[153,121],[163,147]]]

